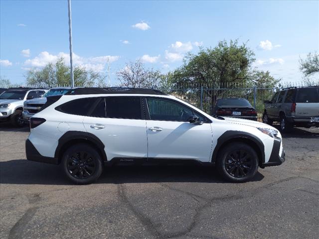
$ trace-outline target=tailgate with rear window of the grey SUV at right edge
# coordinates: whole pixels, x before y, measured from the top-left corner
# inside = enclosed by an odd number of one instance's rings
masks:
[[[297,117],[319,117],[319,88],[307,87],[297,90]]]

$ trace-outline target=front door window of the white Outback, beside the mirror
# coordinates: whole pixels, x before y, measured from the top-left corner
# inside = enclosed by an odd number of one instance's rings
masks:
[[[181,104],[162,99],[147,98],[150,119],[168,121],[188,121],[193,111]]]

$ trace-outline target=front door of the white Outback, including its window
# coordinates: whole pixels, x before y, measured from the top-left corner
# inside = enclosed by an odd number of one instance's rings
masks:
[[[211,161],[212,129],[205,117],[174,100],[146,98],[146,102],[149,159]],[[204,123],[190,123],[192,115]]]

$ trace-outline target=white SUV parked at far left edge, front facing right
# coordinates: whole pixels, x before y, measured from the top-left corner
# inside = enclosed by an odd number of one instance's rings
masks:
[[[0,120],[9,121],[15,127],[23,126],[23,103],[41,97],[46,89],[9,88],[0,95]]]

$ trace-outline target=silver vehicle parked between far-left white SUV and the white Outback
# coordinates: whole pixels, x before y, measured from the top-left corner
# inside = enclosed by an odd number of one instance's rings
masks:
[[[39,112],[41,107],[46,103],[46,97],[48,96],[59,96],[64,95],[71,91],[72,87],[56,87],[51,88],[42,97],[27,100],[23,104],[22,118],[24,122],[29,122],[29,119],[36,113]]]

